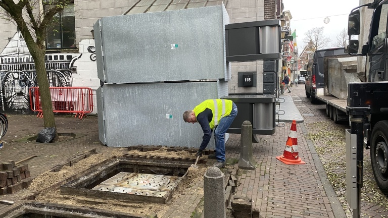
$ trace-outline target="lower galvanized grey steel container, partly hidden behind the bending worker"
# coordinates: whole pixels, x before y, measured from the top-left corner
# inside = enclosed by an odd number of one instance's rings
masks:
[[[99,133],[100,140],[105,134],[105,144],[110,147],[144,144],[199,148],[203,136],[201,126],[185,123],[182,115],[205,99],[217,98],[217,84],[105,84],[98,90],[104,96],[100,99],[104,111],[101,106],[98,110],[99,131],[102,131],[100,125],[105,126],[105,132]],[[100,119],[103,112],[105,120]],[[212,137],[207,148],[214,147]]]

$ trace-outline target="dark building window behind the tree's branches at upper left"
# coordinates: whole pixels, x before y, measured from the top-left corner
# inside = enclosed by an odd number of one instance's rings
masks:
[[[47,10],[51,5],[46,5]],[[74,4],[69,4],[54,17],[55,22],[47,27],[46,47],[70,48],[75,47]]]

